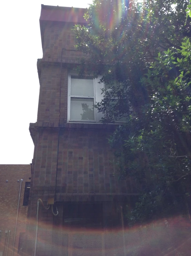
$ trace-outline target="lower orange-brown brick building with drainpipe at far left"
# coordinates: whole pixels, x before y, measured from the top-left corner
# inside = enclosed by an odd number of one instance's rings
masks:
[[[0,256],[17,255],[25,238],[31,166],[1,164],[0,177]]]

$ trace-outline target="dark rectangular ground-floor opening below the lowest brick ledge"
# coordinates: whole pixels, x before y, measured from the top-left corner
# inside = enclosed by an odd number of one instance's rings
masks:
[[[102,203],[65,202],[63,225],[70,228],[102,228]]]

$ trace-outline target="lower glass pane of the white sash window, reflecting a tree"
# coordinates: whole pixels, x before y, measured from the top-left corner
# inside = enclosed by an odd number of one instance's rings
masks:
[[[76,99],[70,101],[70,120],[94,120],[94,99]]]

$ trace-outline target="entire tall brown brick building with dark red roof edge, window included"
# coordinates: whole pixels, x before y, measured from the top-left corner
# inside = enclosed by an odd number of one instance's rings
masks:
[[[101,114],[92,108],[101,100],[104,85],[91,75],[82,79],[73,70],[83,54],[75,51],[71,29],[86,24],[85,12],[41,6],[43,57],[37,62],[37,122],[29,128],[35,149],[26,255],[34,255],[39,198],[45,205],[54,198],[58,215],[53,216],[51,207],[39,206],[36,255],[121,255],[124,237],[117,233],[112,240],[103,230],[124,226],[122,208],[138,194],[131,180],[119,182],[115,176],[107,143],[114,126],[100,124]],[[86,234],[83,228],[93,233]],[[118,253],[112,249],[114,242],[120,246]]]

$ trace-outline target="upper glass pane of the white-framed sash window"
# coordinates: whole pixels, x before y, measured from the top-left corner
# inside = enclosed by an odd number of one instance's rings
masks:
[[[77,75],[71,75],[70,95],[94,96],[93,76],[85,76],[80,78]]]

